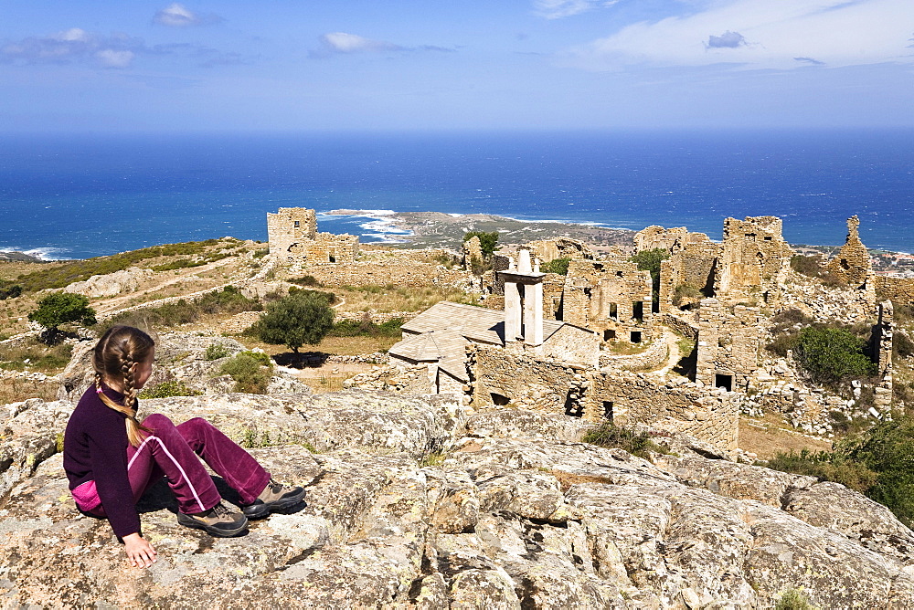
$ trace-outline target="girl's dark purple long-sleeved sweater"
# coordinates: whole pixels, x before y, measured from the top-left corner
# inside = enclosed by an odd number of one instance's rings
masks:
[[[104,392],[117,403],[123,401],[123,394],[107,386]],[[67,471],[69,489],[94,480],[101,507],[120,538],[140,531],[140,515],[127,479],[126,419],[102,403],[91,385],[69,416],[63,440],[63,468]]]

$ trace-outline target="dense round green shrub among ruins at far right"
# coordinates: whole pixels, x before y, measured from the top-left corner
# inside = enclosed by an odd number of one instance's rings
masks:
[[[865,349],[866,342],[845,329],[807,326],[797,337],[793,357],[813,381],[834,385],[876,373]]]

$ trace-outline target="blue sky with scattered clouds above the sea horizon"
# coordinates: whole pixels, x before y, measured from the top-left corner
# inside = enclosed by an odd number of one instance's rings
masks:
[[[0,0],[0,132],[914,126],[914,0]]]

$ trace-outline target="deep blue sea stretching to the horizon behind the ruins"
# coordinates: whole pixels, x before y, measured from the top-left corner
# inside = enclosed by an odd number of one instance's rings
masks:
[[[488,213],[721,237],[781,216],[793,244],[914,250],[914,131],[0,136],[0,250],[88,258],[233,236],[267,212]],[[375,215],[369,215],[375,216]],[[320,229],[390,237],[364,216]]]

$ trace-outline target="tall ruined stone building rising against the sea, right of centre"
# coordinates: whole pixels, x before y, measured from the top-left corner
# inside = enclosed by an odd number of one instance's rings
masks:
[[[724,241],[715,296],[776,307],[790,270],[792,248],[781,236],[781,218],[747,216],[724,220]]]

